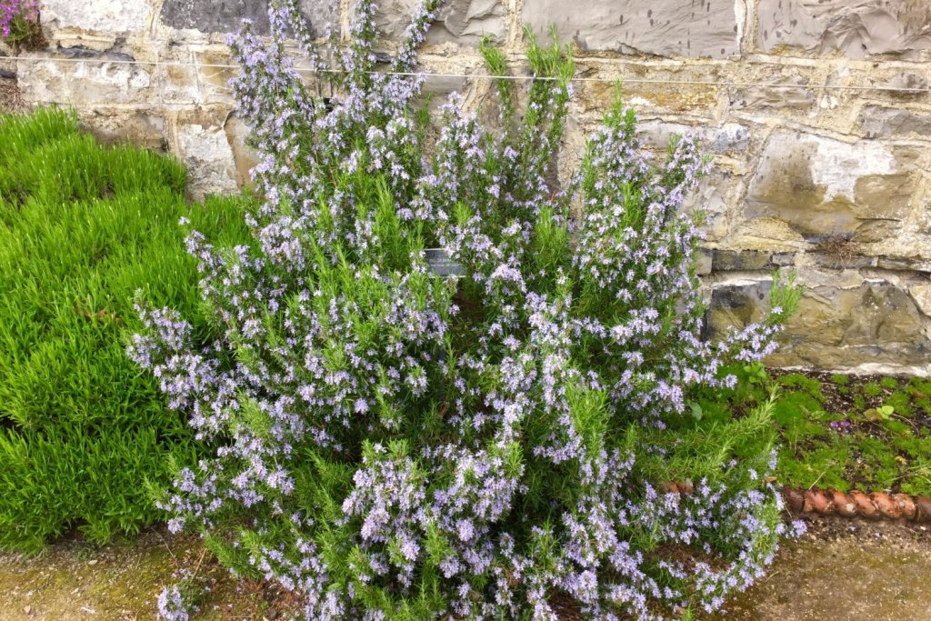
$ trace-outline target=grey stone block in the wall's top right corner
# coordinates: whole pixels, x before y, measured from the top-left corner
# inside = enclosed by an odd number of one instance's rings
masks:
[[[931,48],[931,4],[926,0],[759,0],[760,44],[840,52],[910,55]]]

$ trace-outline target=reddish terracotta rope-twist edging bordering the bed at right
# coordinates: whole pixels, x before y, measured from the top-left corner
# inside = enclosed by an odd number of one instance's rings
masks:
[[[666,493],[693,493],[691,481],[666,481],[661,485]],[[868,520],[907,520],[931,523],[931,498],[907,493],[863,493],[857,490],[802,490],[785,486],[782,497],[790,515],[801,517],[838,516]]]

